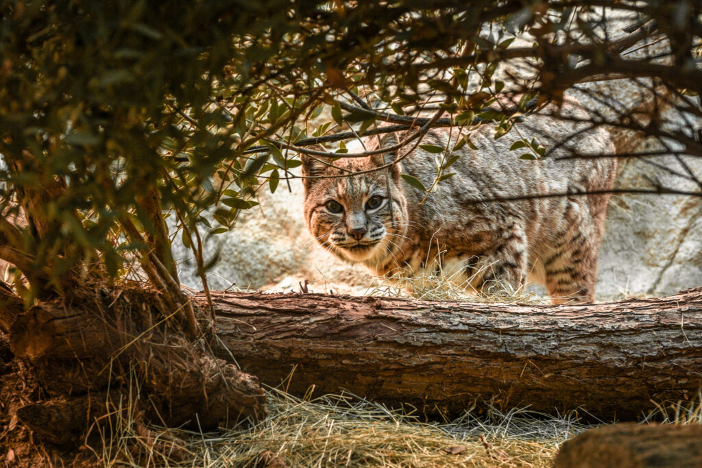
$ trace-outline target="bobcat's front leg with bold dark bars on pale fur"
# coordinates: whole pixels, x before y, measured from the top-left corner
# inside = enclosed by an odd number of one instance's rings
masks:
[[[474,278],[471,283],[477,283],[476,289],[486,295],[499,294],[505,286],[517,290],[527,281],[527,262],[527,236],[515,220],[501,231],[494,248],[470,265]]]

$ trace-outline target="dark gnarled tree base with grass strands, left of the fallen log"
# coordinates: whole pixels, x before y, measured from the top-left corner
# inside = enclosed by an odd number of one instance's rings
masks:
[[[153,316],[154,294],[124,289],[94,302],[43,302],[20,314],[6,294],[0,326],[44,395],[18,408],[19,420],[48,440],[69,443],[125,409],[157,424],[199,429],[265,417],[256,377],[213,356],[206,335],[189,340],[168,326],[170,317]]]

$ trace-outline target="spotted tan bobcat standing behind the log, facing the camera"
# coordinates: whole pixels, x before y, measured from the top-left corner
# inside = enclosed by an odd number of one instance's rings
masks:
[[[554,304],[592,302],[609,194],[480,201],[611,189],[616,159],[559,159],[614,154],[607,130],[578,122],[587,118],[578,102],[567,99],[559,109],[550,106],[526,117],[497,140],[490,125],[479,126],[470,137],[478,149],[458,149],[454,154],[461,157],[450,168],[456,174],[421,204],[425,193],[400,173],[430,186],[436,155],[423,149],[393,163],[389,183],[385,171],[324,176],[378,168],[395,161],[397,153],[333,161],[346,171],[303,155],[304,175],[317,177],[304,179],[307,228],[331,253],[376,275],[421,276],[440,268],[483,293],[502,282],[517,288],[529,277],[545,285]],[[430,131],[423,142],[452,147],[460,136],[453,133]],[[533,136],[554,151],[535,161],[510,151],[515,140]],[[367,138],[366,147],[392,146],[398,138],[402,135],[386,135],[380,142]]]

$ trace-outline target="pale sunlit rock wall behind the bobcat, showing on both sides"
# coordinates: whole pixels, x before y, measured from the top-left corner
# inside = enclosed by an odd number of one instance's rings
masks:
[[[630,22],[631,18],[619,18],[611,23],[609,34],[614,39],[625,34],[623,26]],[[649,48],[639,49],[635,54],[656,55],[666,47],[660,41],[651,41]],[[504,72],[512,76],[528,74],[529,67],[523,63],[513,63],[510,67]],[[630,80],[589,83],[571,91],[571,95],[602,119],[614,116],[613,109],[621,105],[634,109],[651,98],[638,83]],[[602,96],[608,95],[617,96],[619,107],[603,102]],[[664,115],[665,121],[676,128],[695,127],[689,117],[675,114],[674,110],[669,109]],[[696,128],[702,128],[702,123]],[[619,153],[663,147],[661,142],[643,140],[632,133],[616,133],[613,139]],[[670,146],[670,142],[665,144]],[[583,148],[583,152],[587,153],[588,149]],[[702,180],[702,159],[687,157],[683,161],[694,178]],[[687,177],[663,171],[656,163]],[[620,161],[617,187],[649,187],[646,178],[657,178],[663,186],[681,191],[699,189],[698,182],[691,180],[675,156]],[[234,230],[206,241],[206,257],[220,251],[220,261],[208,273],[211,288],[298,290],[299,283],[307,280],[310,290],[317,292],[367,294],[383,284],[362,267],[347,265],[314,243],[303,221],[302,182],[299,179],[289,182],[289,189],[281,181],[275,194],[261,192],[260,206],[242,213]],[[190,253],[178,245],[174,250],[176,258],[180,258],[180,281],[201,288]],[[701,285],[702,198],[613,196],[600,250],[598,300],[666,295]]]

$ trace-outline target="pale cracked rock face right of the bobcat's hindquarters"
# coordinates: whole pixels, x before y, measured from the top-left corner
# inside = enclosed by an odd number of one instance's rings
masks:
[[[660,149],[644,140],[636,149]],[[674,156],[656,163],[682,173]],[[683,161],[702,178],[702,160]],[[651,166],[643,159],[621,161],[617,187],[647,187],[646,177],[684,192],[695,182]],[[702,198],[682,195],[616,195],[609,203],[607,232],[600,250],[597,295],[665,295],[702,285]]]

